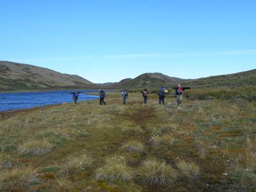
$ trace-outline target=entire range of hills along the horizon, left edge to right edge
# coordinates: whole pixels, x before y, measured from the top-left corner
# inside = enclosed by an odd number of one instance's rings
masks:
[[[58,89],[88,89],[111,88],[141,90],[150,88],[157,90],[159,86],[175,86],[182,83],[183,86],[193,88],[207,87],[233,87],[256,85],[256,69],[236,74],[211,76],[200,79],[180,79],[169,77],[161,73],[145,73],[131,79],[123,79],[118,83],[95,84],[83,77],[69,74],[61,74],[48,68],[36,67],[10,61],[0,61],[0,91],[19,90],[58,90]]]

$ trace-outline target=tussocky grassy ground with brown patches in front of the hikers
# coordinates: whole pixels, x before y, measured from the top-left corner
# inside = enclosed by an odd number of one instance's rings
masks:
[[[256,190],[256,103],[130,93],[4,116],[0,191]]]

